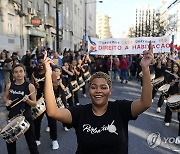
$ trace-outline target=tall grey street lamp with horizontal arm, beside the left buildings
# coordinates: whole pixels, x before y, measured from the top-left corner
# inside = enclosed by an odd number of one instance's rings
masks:
[[[87,33],[87,5],[88,4],[92,4],[92,3],[97,3],[97,2],[99,2],[99,3],[103,3],[103,1],[90,1],[90,2],[87,2],[87,0],[85,1],[85,13],[84,13],[84,15],[85,15],[85,29],[84,29],[84,38],[83,38],[83,45],[84,45],[84,52],[86,51],[86,33]]]

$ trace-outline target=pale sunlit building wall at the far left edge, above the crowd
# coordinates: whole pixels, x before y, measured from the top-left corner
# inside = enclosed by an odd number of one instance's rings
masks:
[[[20,18],[16,16],[14,6],[9,4],[8,0],[0,1],[0,9],[0,50],[21,52]]]

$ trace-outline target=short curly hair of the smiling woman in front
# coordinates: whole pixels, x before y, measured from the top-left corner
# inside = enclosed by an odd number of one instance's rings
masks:
[[[104,72],[96,72],[93,75],[91,75],[91,78],[89,80],[89,84],[91,85],[92,81],[96,78],[103,78],[107,81],[107,84],[109,85],[109,88],[112,87],[112,80],[110,76]]]

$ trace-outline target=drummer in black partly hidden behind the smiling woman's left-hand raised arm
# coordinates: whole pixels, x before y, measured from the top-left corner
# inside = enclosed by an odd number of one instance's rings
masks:
[[[45,78],[45,69],[43,66],[43,62],[44,62],[43,53],[40,53],[39,55],[37,55],[37,60],[38,60],[38,68],[33,72],[31,82],[36,87],[36,90],[37,90],[36,99],[39,100],[41,97],[43,97],[43,93],[44,93],[43,78]],[[38,80],[42,80],[42,81],[37,82]],[[54,72],[52,73],[52,82],[53,82],[54,89],[57,89],[57,87],[58,87],[57,77]],[[46,112],[44,112],[44,113],[46,113]],[[37,117],[34,120],[36,143],[38,146],[41,144],[41,141],[40,141],[41,133],[40,132],[41,132],[41,122],[44,117],[44,113],[42,113],[39,117]],[[49,126],[48,128],[50,128],[50,130],[47,129],[47,131],[50,131],[50,138],[52,140],[52,149],[56,150],[59,148],[59,144],[57,142],[57,123],[56,123],[56,120],[52,119],[47,114],[46,114],[46,116],[48,119],[48,126]]]

